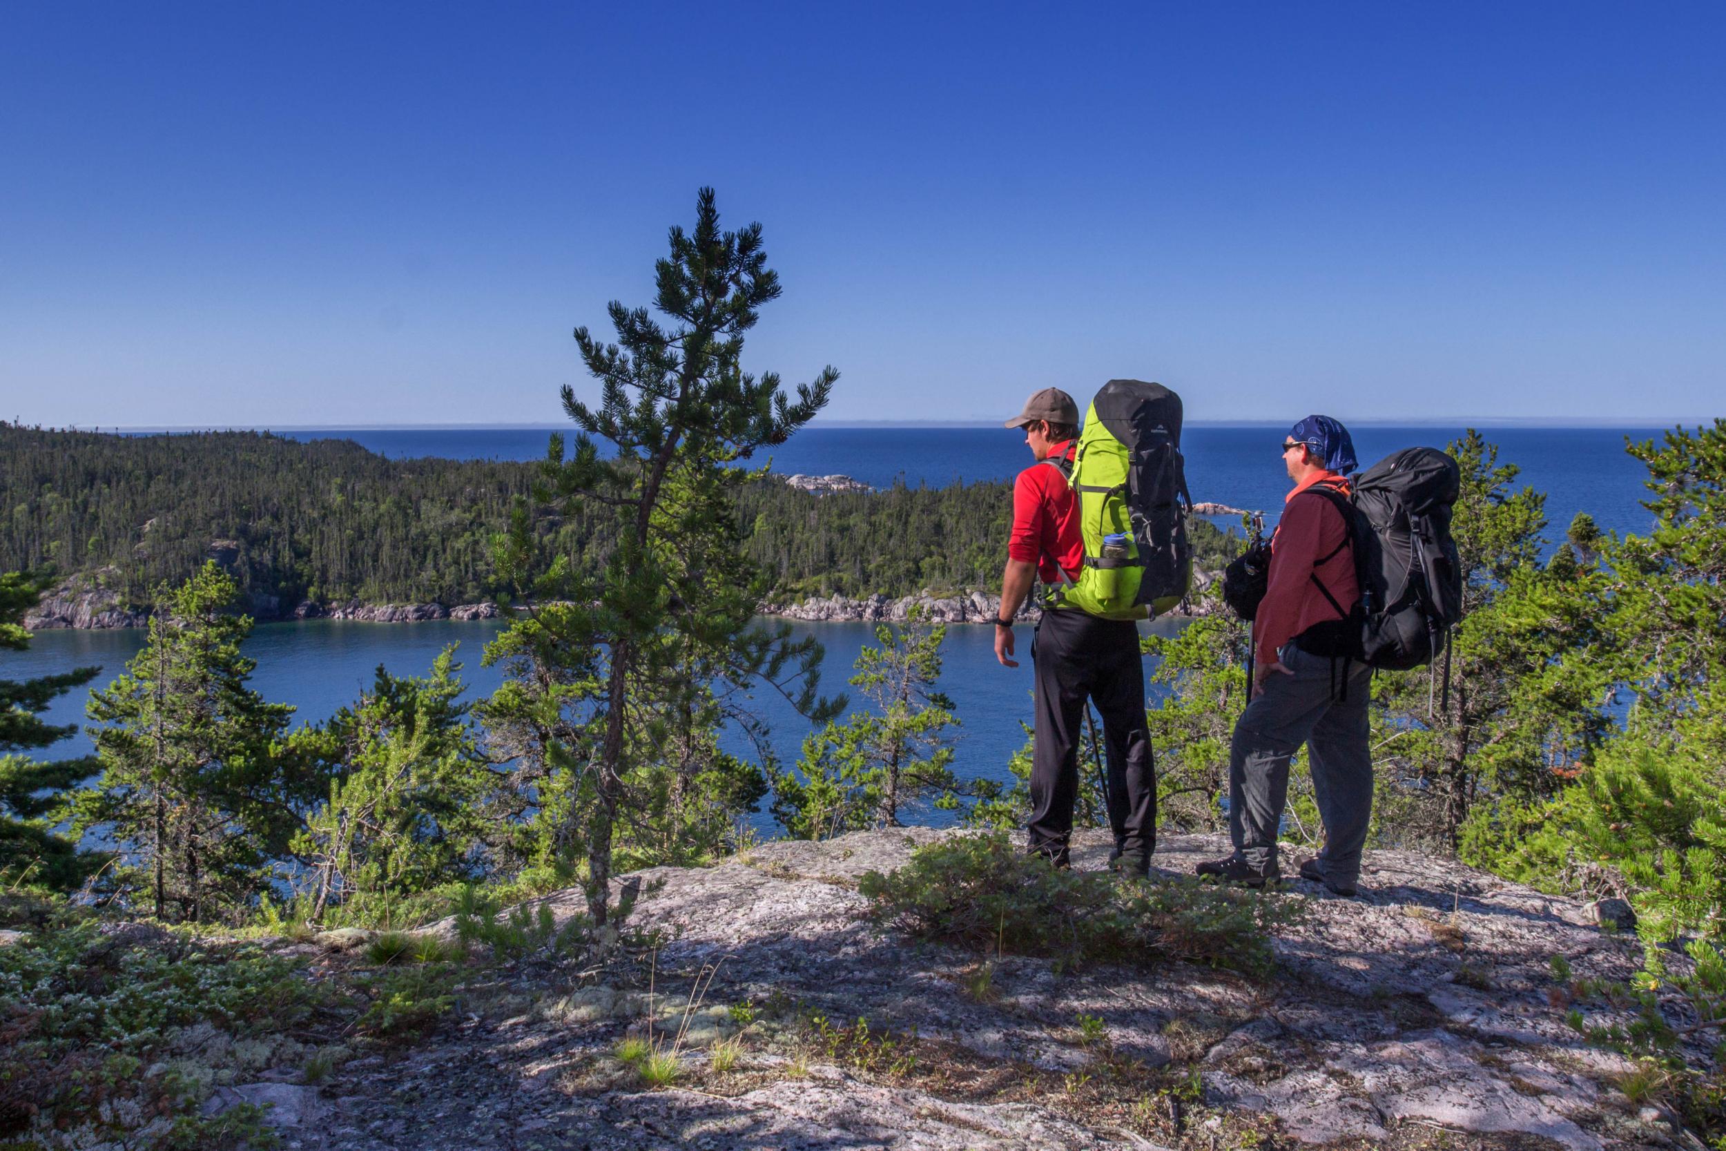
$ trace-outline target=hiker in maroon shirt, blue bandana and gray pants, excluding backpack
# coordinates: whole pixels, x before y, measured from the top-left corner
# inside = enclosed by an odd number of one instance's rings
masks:
[[[1329,416],[1308,416],[1284,437],[1282,462],[1294,490],[1270,540],[1269,585],[1253,623],[1253,697],[1229,749],[1234,854],[1198,865],[1198,873],[1250,887],[1281,875],[1289,759],[1305,744],[1326,842],[1300,873],[1353,896],[1372,816],[1372,670],[1353,657],[1360,587],[1350,523],[1332,500],[1348,495],[1355,443]]]

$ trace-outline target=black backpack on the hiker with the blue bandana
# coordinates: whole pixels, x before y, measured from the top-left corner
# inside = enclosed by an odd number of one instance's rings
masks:
[[[1452,507],[1462,492],[1457,461],[1433,447],[1408,447],[1357,475],[1353,495],[1324,483],[1307,490],[1327,499],[1348,523],[1346,547],[1360,583],[1360,602],[1345,613],[1345,626],[1327,628],[1336,647],[1319,654],[1386,671],[1433,663],[1462,621],[1462,559],[1450,538]],[[1317,575],[1312,582],[1343,613]]]

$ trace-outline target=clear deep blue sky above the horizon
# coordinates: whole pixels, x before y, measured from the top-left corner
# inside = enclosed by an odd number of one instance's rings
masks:
[[[713,185],[830,419],[1726,414],[1726,7],[0,9],[0,418],[540,423]]]

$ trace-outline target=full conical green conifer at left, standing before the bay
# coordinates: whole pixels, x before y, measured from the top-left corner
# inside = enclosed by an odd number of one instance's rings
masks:
[[[278,754],[293,708],[247,687],[252,620],[230,614],[236,599],[214,563],[161,588],[143,651],[86,708],[102,777],[79,794],[76,827],[109,825],[135,861],[121,884],[164,920],[243,908],[300,823],[302,780]]]

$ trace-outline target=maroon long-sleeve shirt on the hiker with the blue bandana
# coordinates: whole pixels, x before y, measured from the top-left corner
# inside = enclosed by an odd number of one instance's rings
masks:
[[[1270,537],[1269,585],[1253,625],[1255,656],[1265,668],[1276,663],[1279,647],[1312,625],[1343,618],[1310,576],[1319,576],[1345,613],[1360,599],[1355,556],[1343,547],[1348,525],[1324,495],[1307,495],[1320,481],[1348,492],[1348,480],[1334,471],[1307,480],[1284,499],[1282,519]],[[1329,559],[1319,564],[1320,556]]]

